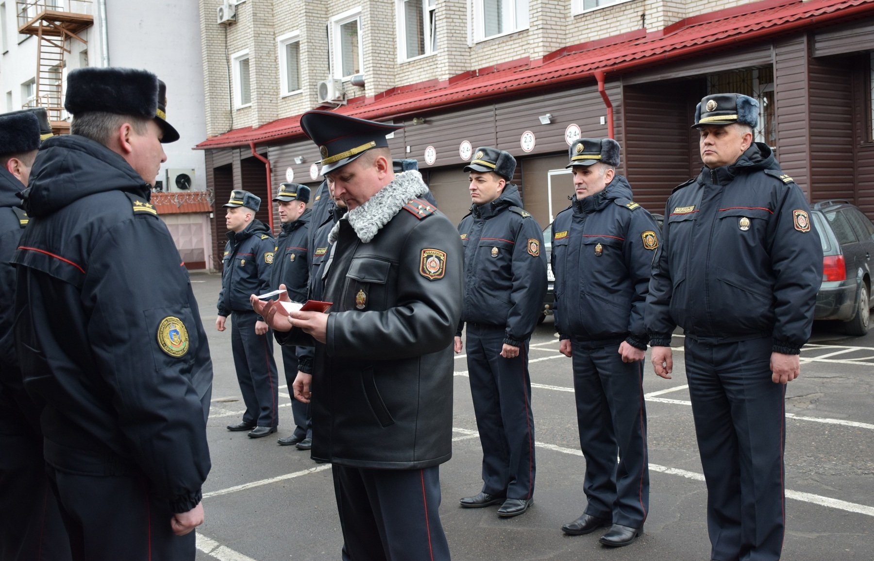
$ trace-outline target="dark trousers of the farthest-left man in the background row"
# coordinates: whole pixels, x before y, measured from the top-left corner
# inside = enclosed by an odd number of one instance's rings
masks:
[[[253,311],[233,311],[231,348],[237,369],[239,391],[246,413],[243,422],[258,426],[278,426],[279,375],[273,356],[273,334],[255,334],[255,322],[261,316]]]

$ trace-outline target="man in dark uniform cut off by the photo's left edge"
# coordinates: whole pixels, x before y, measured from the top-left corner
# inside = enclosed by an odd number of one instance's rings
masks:
[[[58,502],[45,477],[41,407],[24,391],[15,350],[15,267],[28,223],[24,190],[41,138],[52,136],[45,108],[0,115],[0,559],[69,559]]]

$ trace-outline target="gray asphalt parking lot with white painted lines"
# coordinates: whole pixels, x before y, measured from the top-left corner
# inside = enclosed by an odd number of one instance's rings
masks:
[[[208,438],[212,471],[204,487],[206,522],[198,527],[198,561],[339,559],[343,537],[327,464],[280,447],[294,429],[288,389],[280,388],[279,433],[259,440],[230,433],[245,409],[231,354],[231,331],[215,329],[218,275],[192,274],[209,336],[215,378]],[[610,549],[600,532],[568,537],[560,527],[586,508],[585,461],[572,391],[571,359],[558,353],[547,318],[531,337],[532,409],[537,442],[535,502],[522,516],[500,519],[497,507],[461,509],[458,499],[482,487],[467,363],[455,360],[454,445],[440,466],[440,517],[454,559],[614,559],[685,561],[710,558],[706,489],[698,459],[683,361],[676,335],[674,375],[645,366],[649,419],[650,499],[646,533]],[[280,377],[281,353],[274,347]],[[280,384],[285,384],[281,379]],[[843,335],[817,323],[801,352],[801,377],[788,385],[787,534],[783,559],[874,559],[874,331]]]

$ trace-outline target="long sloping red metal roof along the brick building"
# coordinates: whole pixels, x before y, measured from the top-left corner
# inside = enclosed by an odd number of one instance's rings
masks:
[[[392,88],[372,98],[356,98],[336,113],[363,119],[403,117],[447,109],[547,87],[593,80],[595,72],[625,73],[704,51],[731,48],[800,29],[836,24],[874,14],[874,0],[765,0],[686,18],[662,31],[632,31],[614,38],[572,45],[543,59],[519,59],[418,85]],[[197,149],[245,146],[302,136],[300,115],[258,128],[238,128],[200,142]]]

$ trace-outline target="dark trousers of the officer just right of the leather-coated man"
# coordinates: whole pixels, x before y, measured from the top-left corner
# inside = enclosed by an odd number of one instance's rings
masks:
[[[482,491],[531,499],[537,465],[528,341],[514,358],[501,356],[505,329],[468,322],[468,376],[482,444]]]

